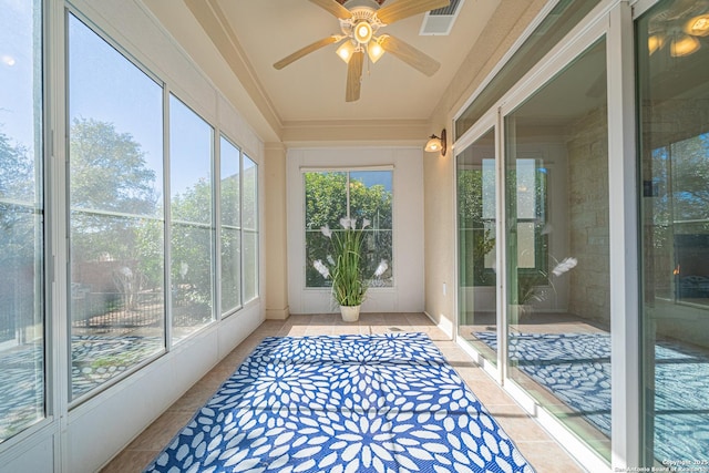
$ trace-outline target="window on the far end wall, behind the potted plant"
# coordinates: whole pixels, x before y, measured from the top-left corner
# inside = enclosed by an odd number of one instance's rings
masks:
[[[366,228],[364,274],[372,275],[371,286],[393,286],[392,171],[306,172],[306,287],[328,287],[329,280],[314,268],[314,261],[327,258],[330,240],[320,228],[342,230],[340,218],[349,217]],[[374,278],[380,263],[386,271]]]

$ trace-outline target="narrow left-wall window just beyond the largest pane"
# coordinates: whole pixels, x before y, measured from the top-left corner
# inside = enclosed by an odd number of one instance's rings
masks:
[[[214,320],[213,140],[212,126],[171,95],[169,257],[174,341]]]

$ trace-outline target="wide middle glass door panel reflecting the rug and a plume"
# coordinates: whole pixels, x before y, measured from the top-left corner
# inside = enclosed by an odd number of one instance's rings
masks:
[[[610,452],[606,43],[505,116],[508,377]]]

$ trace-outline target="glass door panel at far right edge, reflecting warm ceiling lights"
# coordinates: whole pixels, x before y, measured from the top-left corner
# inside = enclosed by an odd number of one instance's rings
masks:
[[[660,2],[636,32],[644,462],[707,465],[709,4]]]

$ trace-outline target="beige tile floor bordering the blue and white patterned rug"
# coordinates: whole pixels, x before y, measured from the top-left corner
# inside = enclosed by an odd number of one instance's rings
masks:
[[[288,320],[267,320],[244,342],[189,389],[179,400],[145,429],[101,472],[141,472],[173,436],[192,419],[265,338],[273,336],[316,336],[419,331],[428,333],[449,363],[470,385],[538,473],[584,472],[568,453],[531,419],[472,359],[439,330],[423,313],[362,313],[359,322],[342,322],[340,316],[291,316]]]

